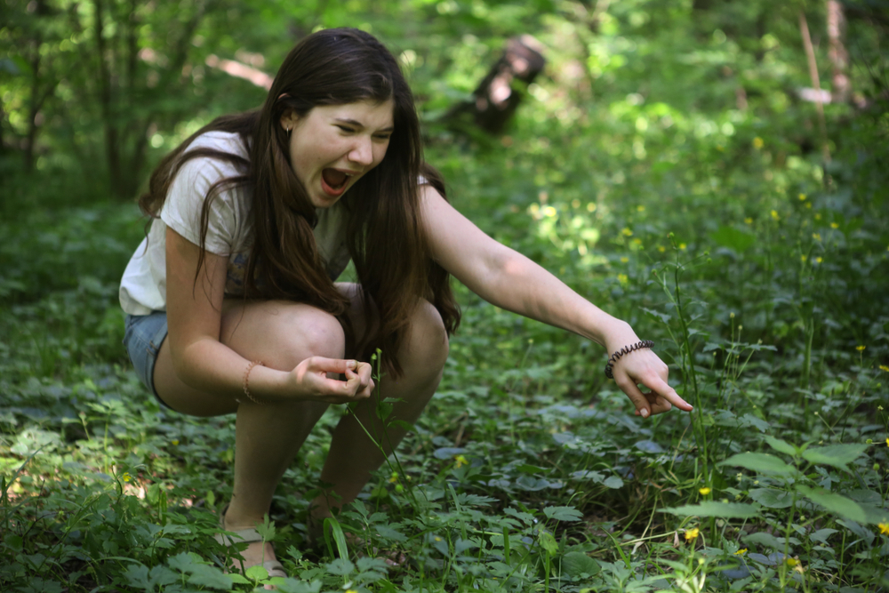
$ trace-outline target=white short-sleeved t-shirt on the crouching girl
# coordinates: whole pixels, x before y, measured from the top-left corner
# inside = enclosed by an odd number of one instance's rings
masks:
[[[236,133],[207,132],[188,147],[215,148],[248,157],[247,148]],[[172,181],[160,218],[152,221],[148,237],[142,240],[124,270],[120,284],[120,304],[130,315],[148,315],[166,310],[166,229],[172,228],[188,241],[201,243],[201,210],[204,197],[216,181],[243,174],[235,164],[199,157],[182,165]],[[205,249],[228,256],[226,294],[244,294],[244,273],[252,244],[250,209],[252,188],[238,186],[221,191],[209,212]],[[344,206],[317,209],[315,241],[332,279],[348,265]]]

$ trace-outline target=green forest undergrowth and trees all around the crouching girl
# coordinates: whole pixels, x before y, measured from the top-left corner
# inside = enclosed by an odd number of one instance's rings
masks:
[[[696,409],[636,419],[595,344],[458,287],[439,393],[320,554],[306,505],[341,411],[285,475],[280,589],[889,587],[889,10],[844,6],[853,100],[824,105],[825,163],[797,94],[800,12],[829,88],[820,2],[5,0],[0,589],[263,580],[223,574],[211,538],[231,419],[148,396],[117,283],[151,164],[264,96],[210,64],[274,74],[335,26],[400,57],[461,211],[657,341]],[[509,130],[449,124],[525,33],[549,64]]]

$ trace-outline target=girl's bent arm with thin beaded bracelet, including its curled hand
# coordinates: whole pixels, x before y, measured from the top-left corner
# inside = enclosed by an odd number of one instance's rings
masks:
[[[167,228],[167,340],[173,366],[180,380],[193,389],[220,397],[242,397],[244,370],[250,361],[220,342],[228,257],[204,252],[195,282],[199,256],[200,247]],[[250,390],[260,400],[318,399],[328,403],[369,395],[370,366],[360,365],[356,374],[347,362],[311,357],[292,370],[255,366]],[[346,373],[349,381],[328,379],[326,373]]]

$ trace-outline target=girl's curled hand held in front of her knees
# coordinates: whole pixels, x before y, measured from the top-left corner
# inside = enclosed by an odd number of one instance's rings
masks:
[[[346,381],[331,378],[344,374]],[[325,404],[348,404],[371,397],[374,383],[371,365],[356,360],[308,357],[296,365],[288,378],[288,390],[299,399]]]

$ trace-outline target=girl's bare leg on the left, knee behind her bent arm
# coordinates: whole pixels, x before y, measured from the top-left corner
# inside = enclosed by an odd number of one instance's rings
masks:
[[[308,305],[282,301],[226,302],[220,341],[248,360],[290,371],[311,356],[343,357],[345,339],[335,317]],[[236,412],[235,484],[225,526],[240,530],[261,523],[272,494],[325,404],[256,405],[206,394],[183,384],[164,341],[155,367],[158,395],[173,409],[198,416]],[[245,565],[275,557],[270,544],[251,544]]]

